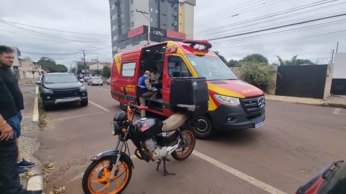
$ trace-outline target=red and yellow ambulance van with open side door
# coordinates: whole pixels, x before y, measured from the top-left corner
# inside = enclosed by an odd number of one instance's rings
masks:
[[[145,70],[157,68],[161,75],[156,88],[157,98],[145,100],[152,113],[170,116],[170,83],[174,77],[206,77],[209,108],[197,118],[199,138],[210,137],[214,130],[257,128],[264,124],[265,99],[259,88],[237,79],[224,62],[209,50],[208,41],[167,41],[120,52],[114,56],[111,68],[111,96],[125,104],[136,99],[138,78]],[[156,81],[157,82],[157,81]]]

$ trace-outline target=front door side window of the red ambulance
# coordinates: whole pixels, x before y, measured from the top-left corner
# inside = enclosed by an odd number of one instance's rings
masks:
[[[188,66],[184,63],[181,57],[168,57],[168,75],[170,77],[191,77]]]

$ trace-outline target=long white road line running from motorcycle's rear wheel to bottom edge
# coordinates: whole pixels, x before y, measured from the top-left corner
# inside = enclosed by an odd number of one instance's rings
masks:
[[[239,178],[241,178],[242,180],[245,180],[259,188],[262,188],[264,191],[268,191],[269,193],[275,193],[275,194],[287,194],[284,193],[284,191],[280,191],[279,189],[270,186],[268,184],[265,184],[264,182],[261,182],[260,180],[255,179],[254,177],[251,177],[249,175],[246,175],[245,173],[242,173],[240,171],[237,171],[235,168],[232,168],[230,166],[227,166],[226,164],[223,164],[219,161],[217,161],[216,159],[212,159],[211,157],[208,157],[207,155],[203,155],[203,153],[199,153],[198,151],[193,151],[192,153],[193,155],[204,159],[206,162],[209,162],[210,164],[213,164],[219,168],[221,168],[224,171],[227,171],[228,173],[231,173]]]

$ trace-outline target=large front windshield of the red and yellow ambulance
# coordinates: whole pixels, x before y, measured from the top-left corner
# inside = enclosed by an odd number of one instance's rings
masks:
[[[219,57],[186,55],[199,77],[207,80],[237,79]]]

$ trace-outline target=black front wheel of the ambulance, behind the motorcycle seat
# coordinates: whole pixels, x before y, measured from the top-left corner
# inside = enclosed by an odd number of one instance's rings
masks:
[[[198,139],[208,139],[212,135],[212,122],[210,117],[201,116],[196,119],[197,128],[194,128]]]

